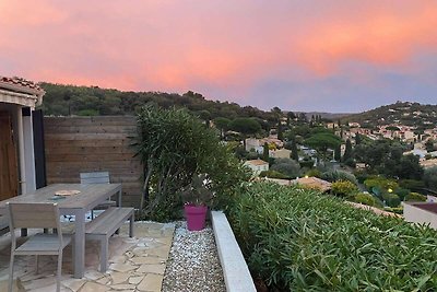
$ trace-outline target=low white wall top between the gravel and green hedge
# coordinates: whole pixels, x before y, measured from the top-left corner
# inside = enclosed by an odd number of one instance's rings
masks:
[[[211,221],[227,292],[256,292],[249,268],[226,215],[222,211],[211,211]]]

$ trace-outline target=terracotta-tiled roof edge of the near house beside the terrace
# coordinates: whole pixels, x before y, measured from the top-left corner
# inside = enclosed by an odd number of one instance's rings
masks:
[[[43,102],[46,92],[35,82],[19,77],[0,77],[0,103],[34,108]]]

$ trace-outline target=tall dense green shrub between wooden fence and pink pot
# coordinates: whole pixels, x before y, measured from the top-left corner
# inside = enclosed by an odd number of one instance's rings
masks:
[[[186,109],[146,105],[137,121],[134,147],[144,167],[140,203],[144,217],[177,218],[182,208],[180,192],[194,174],[206,175],[215,194],[212,207],[221,208],[232,203],[236,187],[248,179],[248,172],[220,143],[216,132]]]

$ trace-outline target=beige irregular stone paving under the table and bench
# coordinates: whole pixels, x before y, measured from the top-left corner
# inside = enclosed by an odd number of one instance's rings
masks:
[[[71,230],[71,224],[66,226],[66,230]],[[61,291],[160,292],[172,247],[175,224],[135,222],[135,237],[133,238],[127,235],[128,229],[128,224],[123,225],[120,234],[114,235],[109,240],[109,268],[105,273],[98,271],[98,242],[86,242],[85,275],[82,279],[72,277],[71,247],[66,247],[62,261]],[[16,235],[19,235],[17,231]],[[19,244],[20,241],[22,238],[19,237]],[[10,235],[0,236],[0,291],[8,291],[10,248]],[[56,260],[56,256],[40,256],[39,273],[35,275],[34,256],[15,257],[14,291],[55,291]]]

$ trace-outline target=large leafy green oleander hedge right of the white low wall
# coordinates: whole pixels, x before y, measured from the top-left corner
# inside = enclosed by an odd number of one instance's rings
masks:
[[[315,190],[256,183],[229,220],[272,291],[434,291],[437,231]]]

